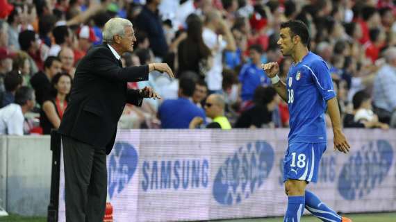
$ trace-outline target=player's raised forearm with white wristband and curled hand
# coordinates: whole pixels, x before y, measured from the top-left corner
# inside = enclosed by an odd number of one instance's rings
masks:
[[[279,96],[284,101],[288,101],[288,94],[286,92],[286,84],[283,83],[278,76],[279,73],[279,65],[278,62],[270,62],[261,65],[261,67],[264,69],[265,74],[271,78],[271,83],[274,89],[277,91]]]

